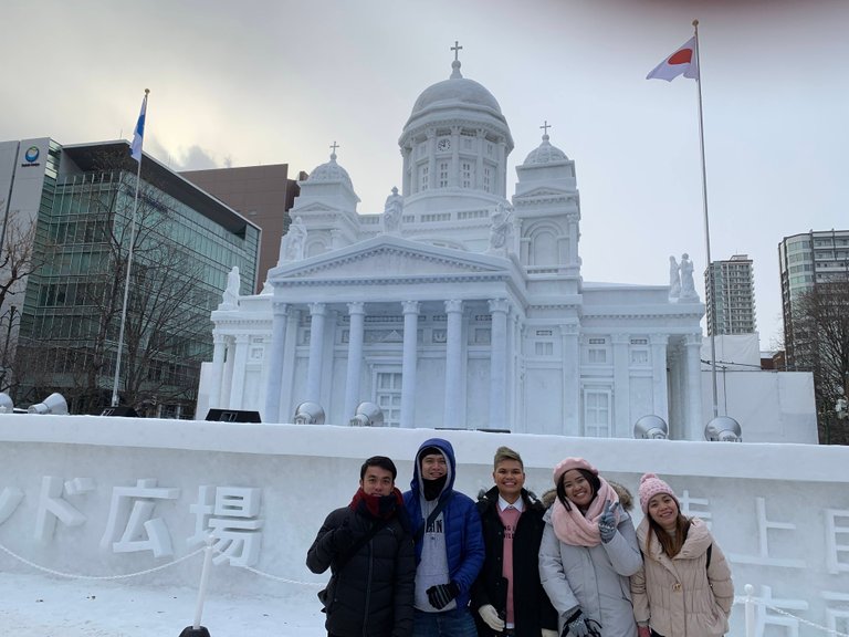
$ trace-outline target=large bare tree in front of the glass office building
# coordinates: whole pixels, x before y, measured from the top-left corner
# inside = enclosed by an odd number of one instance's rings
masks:
[[[124,154],[104,155],[98,163],[102,168],[90,181],[65,196],[84,200],[84,219],[76,220],[72,230],[71,222],[63,226],[56,221],[62,215],[54,215],[45,229],[55,237],[51,264],[63,263],[81,243],[85,247],[86,269],[73,291],[63,292],[73,294],[69,305],[74,321],[63,327],[66,334],[32,338],[19,364],[29,372],[33,391],[40,385],[40,369],[48,367],[54,370],[54,383],[62,382],[74,411],[99,413],[107,407],[129,267],[122,404],[147,413],[155,413],[159,404],[180,405],[191,413],[200,362],[211,351],[209,312],[216,300],[202,289],[201,263],[178,238],[178,202],[156,184],[143,181],[133,231],[135,175],[122,169],[127,168]]]

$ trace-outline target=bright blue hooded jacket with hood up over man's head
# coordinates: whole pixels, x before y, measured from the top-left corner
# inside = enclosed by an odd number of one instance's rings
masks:
[[[442,509],[444,519],[446,553],[451,582],[455,582],[460,593],[457,596],[457,607],[465,608],[472,585],[481,571],[484,558],[483,535],[481,534],[481,518],[478,515],[474,501],[454,491],[454,476],[457,462],[454,448],[448,440],[431,438],[422,442],[416,452],[415,468],[410,490],[403,494],[403,503],[410,520],[412,536],[417,537],[419,529],[424,525],[424,516],[421,512],[422,479],[419,453],[427,447],[436,447],[448,460],[448,479],[438,500],[444,501]],[[416,542],[416,563],[421,560],[421,539]],[[448,584],[448,582],[446,582]]]

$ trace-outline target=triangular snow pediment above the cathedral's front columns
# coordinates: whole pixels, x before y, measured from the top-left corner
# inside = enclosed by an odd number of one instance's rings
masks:
[[[501,260],[462,253],[397,238],[378,237],[269,272],[274,281],[292,279],[429,279],[506,273]]]

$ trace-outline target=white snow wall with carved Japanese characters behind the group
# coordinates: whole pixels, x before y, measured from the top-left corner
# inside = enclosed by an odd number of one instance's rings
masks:
[[[405,490],[432,436],[453,443],[457,488],[472,497],[492,484],[501,445],[523,456],[536,493],[566,456],[635,495],[640,476],[657,472],[685,513],[712,525],[738,596],[752,584],[774,608],[849,631],[847,447],[0,415],[0,568],[145,572],[123,582],[193,587],[211,536],[211,591],[317,591],[327,574],[307,571],[306,551],[326,514],[350,501],[363,460],[392,458]],[[632,514],[638,523],[639,504]],[[757,623],[758,635],[822,634],[775,610],[759,610]],[[738,604],[732,634],[743,625]]]

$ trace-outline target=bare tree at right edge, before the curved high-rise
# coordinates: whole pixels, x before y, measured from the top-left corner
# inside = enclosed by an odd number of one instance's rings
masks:
[[[819,440],[849,445],[849,422],[835,413],[849,393],[849,281],[817,283],[795,303],[794,366],[814,373]]]

